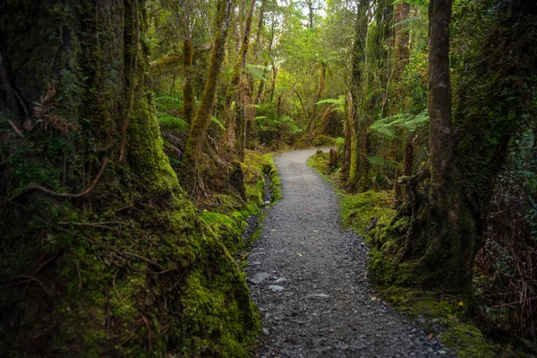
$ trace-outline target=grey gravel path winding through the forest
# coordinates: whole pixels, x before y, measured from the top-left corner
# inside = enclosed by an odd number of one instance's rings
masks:
[[[264,327],[257,356],[456,356],[373,298],[367,247],[340,228],[336,193],[306,165],[316,150],[275,157],[283,198],[268,208],[246,268]]]

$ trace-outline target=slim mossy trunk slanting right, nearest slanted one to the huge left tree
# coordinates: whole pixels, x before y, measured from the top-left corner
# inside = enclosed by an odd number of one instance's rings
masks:
[[[200,175],[198,162],[203,150],[203,141],[209,129],[212,108],[217,95],[217,82],[220,70],[224,64],[225,47],[229,22],[231,18],[233,0],[219,0],[217,4],[217,19],[215,45],[210,56],[209,73],[205,87],[201,94],[200,106],[192,120],[191,130],[184,149],[184,184],[191,193],[196,193],[200,188]]]

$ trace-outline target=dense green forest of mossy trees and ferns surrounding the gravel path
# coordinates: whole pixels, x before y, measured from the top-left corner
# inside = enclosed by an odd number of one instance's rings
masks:
[[[248,355],[259,153],[320,146],[393,197],[376,285],[535,344],[535,24],[533,0],[4,0],[0,355]]]

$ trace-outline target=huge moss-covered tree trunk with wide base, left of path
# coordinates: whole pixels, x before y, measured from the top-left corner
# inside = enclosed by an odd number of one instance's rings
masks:
[[[141,0],[0,3],[27,122],[0,93],[1,356],[244,356],[258,329],[163,151],[145,29]]]

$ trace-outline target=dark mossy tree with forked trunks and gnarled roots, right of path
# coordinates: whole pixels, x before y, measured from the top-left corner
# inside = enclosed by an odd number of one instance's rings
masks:
[[[411,212],[404,206],[379,235],[371,268],[381,283],[436,288],[472,303],[474,257],[494,182],[512,137],[535,114],[537,5],[480,1],[461,20],[488,17],[487,29],[471,38],[458,68],[453,118],[450,8],[450,0],[430,1],[430,192],[416,189],[427,172],[404,178]],[[383,251],[388,241],[390,249]]]

